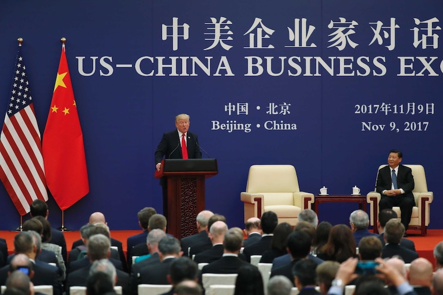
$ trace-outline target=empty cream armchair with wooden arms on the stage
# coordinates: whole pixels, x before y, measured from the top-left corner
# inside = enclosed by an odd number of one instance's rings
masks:
[[[294,226],[301,210],[310,208],[314,195],[300,191],[296,169],[292,165],[253,165],[249,168],[246,192],[240,194],[245,206],[245,222],[273,211],[279,223]]]

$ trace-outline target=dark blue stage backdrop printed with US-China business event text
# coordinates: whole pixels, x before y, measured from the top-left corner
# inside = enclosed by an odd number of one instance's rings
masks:
[[[426,169],[430,228],[442,228],[441,21],[434,0],[4,0],[0,115],[22,37],[43,134],[66,37],[90,184],[65,211],[72,229],[94,211],[114,230],[136,229],[145,206],[161,212],[154,151],[178,113],[218,160],[206,204],[229,226],[243,226],[239,195],[253,164],[294,165],[303,191],[366,194],[398,148],[402,164]],[[19,225],[3,186],[0,208],[0,229]],[[348,223],[354,209],[322,204],[320,220]]]

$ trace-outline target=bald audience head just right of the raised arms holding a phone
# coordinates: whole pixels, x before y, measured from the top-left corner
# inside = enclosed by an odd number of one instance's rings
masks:
[[[408,281],[417,294],[431,294],[432,277],[432,263],[426,258],[417,258],[411,262]]]

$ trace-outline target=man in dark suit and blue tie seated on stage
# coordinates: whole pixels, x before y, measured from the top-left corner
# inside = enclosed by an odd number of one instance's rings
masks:
[[[381,194],[378,204],[379,210],[392,209],[393,206],[400,207],[401,223],[404,226],[404,235],[411,222],[412,208],[415,206],[415,199],[412,190],[414,189],[414,176],[409,167],[400,165],[403,153],[399,150],[390,150],[387,158],[388,166],[378,171],[376,190]]]

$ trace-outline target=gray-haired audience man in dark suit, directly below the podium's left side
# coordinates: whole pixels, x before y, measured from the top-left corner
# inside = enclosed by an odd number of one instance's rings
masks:
[[[174,237],[165,235],[158,243],[158,251],[160,262],[152,263],[140,269],[137,274],[137,285],[169,285],[168,274],[170,273],[171,263],[183,254],[180,251],[180,242]],[[134,290],[133,286],[131,288]]]

